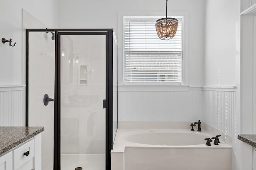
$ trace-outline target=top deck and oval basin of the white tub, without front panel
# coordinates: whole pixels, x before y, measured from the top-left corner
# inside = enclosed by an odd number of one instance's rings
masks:
[[[219,145],[206,146],[205,138],[215,137],[204,129],[118,129],[112,153],[126,148],[227,148],[232,146],[220,140]]]

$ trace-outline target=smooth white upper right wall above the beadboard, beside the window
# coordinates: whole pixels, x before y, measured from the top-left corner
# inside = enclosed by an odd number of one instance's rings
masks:
[[[238,3],[207,0],[205,8],[204,86],[235,86]]]

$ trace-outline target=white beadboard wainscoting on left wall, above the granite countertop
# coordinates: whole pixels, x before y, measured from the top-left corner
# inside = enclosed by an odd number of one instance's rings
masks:
[[[0,87],[0,126],[25,126],[24,88]]]

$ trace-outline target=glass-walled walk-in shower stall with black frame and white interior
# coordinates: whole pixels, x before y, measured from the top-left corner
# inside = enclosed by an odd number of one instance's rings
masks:
[[[26,126],[44,126],[42,170],[110,170],[117,130],[112,29],[26,30]]]

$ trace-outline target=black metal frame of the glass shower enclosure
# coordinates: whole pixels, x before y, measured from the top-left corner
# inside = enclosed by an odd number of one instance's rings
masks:
[[[106,35],[106,170],[111,170],[113,148],[113,29],[26,29],[26,126],[28,127],[29,32],[55,32],[54,81],[54,170],[60,170],[60,37],[62,35]],[[103,101],[102,101],[103,107]]]

